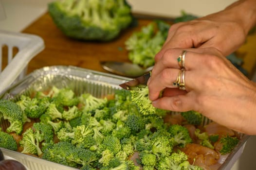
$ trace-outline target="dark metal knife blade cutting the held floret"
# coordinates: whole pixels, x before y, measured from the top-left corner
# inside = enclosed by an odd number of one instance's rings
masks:
[[[137,77],[135,79],[132,79],[126,83],[120,84],[119,86],[126,89],[126,90],[132,90],[132,87],[137,85],[146,85],[147,81],[151,75],[151,72],[148,72],[140,77]]]

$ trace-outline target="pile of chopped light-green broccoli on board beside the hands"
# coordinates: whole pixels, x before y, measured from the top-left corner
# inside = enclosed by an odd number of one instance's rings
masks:
[[[144,68],[153,66],[155,55],[161,50],[169,27],[169,24],[158,20],[144,26],[141,31],[133,33],[125,41],[129,60]]]

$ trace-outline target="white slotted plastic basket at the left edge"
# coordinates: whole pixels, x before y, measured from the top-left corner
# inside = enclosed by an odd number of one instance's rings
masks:
[[[8,64],[3,69],[3,47],[8,48]],[[18,49],[15,54],[14,49]],[[44,49],[44,41],[33,34],[0,30],[0,92],[24,77],[30,60]]]

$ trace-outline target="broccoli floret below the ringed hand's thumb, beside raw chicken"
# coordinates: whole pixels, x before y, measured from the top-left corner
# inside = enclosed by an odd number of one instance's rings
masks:
[[[169,127],[168,132],[174,138],[175,145],[184,147],[188,143],[192,143],[187,128],[179,124],[173,124]]]

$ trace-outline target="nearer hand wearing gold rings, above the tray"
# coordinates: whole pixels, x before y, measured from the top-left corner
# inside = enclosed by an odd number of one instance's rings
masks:
[[[215,48],[187,49],[185,88],[173,85],[182,49],[168,49],[148,82],[149,99],[158,108],[195,110],[238,132],[256,134],[256,85]],[[163,90],[163,97],[158,98]]]

